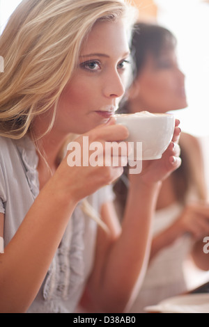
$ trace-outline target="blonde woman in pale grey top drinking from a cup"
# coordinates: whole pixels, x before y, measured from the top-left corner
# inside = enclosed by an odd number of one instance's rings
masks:
[[[98,311],[123,312],[140,286],[180,129],[162,159],[130,177],[122,228],[109,184],[124,163],[69,166],[70,151],[58,160],[69,133],[81,147],[83,136],[127,138],[111,115],[124,93],[129,13],[122,0],[24,0],[1,35],[1,312],[74,312],[84,291]],[[86,215],[86,199],[107,230]]]

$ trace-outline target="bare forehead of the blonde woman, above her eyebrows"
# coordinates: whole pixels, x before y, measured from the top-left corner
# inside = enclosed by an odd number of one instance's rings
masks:
[[[82,56],[91,53],[121,55],[125,52],[129,52],[129,45],[123,19],[116,22],[96,22],[81,49]]]

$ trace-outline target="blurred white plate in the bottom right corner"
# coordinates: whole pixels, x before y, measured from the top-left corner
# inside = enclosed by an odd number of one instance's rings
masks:
[[[209,313],[209,294],[187,294],[173,296],[144,310],[161,313]]]

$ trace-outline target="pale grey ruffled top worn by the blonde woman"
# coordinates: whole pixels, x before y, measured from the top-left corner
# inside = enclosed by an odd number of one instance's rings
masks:
[[[5,215],[4,246],[13,238],[38,196],[37,165],[36,149],[28,137],[18,141],[0,137],[0,212]],[[111,186],[106,186],[89,196],[88,202],[99,213],[102,204],[113,198]],[[79,203],[29,313],[75,311],[93,266],[97,228],[97,223],[84,214]]]

